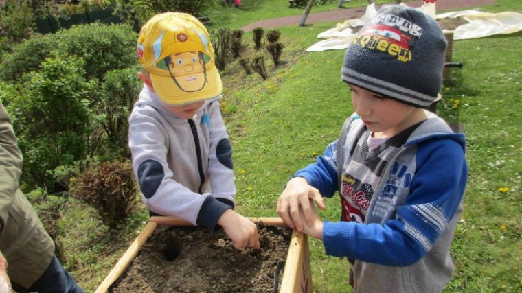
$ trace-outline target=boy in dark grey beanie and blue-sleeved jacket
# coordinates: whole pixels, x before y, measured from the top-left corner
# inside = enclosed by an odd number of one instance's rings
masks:
[[[348,257],[354,292],[441,292],[462,213],[464,134],[424,110],[442,86],[446,40],[414,8],[385,5],[346,50],[342,79],[355,113],[316,163],[295,173],[277,201],[291,227]],[[313,201],[339,191],[340,222]]]

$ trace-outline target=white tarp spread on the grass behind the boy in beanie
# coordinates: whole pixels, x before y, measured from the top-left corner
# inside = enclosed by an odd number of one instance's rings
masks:
[[[420,7],[419,9],[422,10],[422,8]],[[352,32],[352,27],[365,25],[376,13],[375,5],[368,5],[365,14],[360,19],[350,19],[343,23],[337,23],[330,30],[318,34],[317,38],[323,38],[324,40],[320,40],[308,47],[306,51],[346,49],[355,36]],[[522,30],[522,14],[517,12],[488,13],[477,10],[465,10],[435,15],[435,19],[446,18],[460,18],[468,22],[453,30],[453,40],[482,38],[495,34],[512,34]]]

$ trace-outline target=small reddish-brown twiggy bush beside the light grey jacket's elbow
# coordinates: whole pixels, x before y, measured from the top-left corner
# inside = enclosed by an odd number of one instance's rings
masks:
[[[115,228],[131,214],[137,190],[130,162],[106,162],[71,180],[70,194],[91,205],[102,222]]]

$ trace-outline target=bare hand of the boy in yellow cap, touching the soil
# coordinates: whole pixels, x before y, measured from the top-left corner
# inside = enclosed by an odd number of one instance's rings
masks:
[[[223,227],[235,248],[260,248],[258,226],[249,219],[231,209],[227,209],[219,218],[218,224]]]

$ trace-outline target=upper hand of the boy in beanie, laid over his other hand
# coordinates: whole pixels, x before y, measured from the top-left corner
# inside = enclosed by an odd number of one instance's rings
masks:
[[[317,202],[319,209],[324,210],[324,202],[319,190],[308,185],[308,181],[302,177],[294,177],[286,184],[282,194],[277,199],[277,214],[291,228],[303,231],[302,222],[312,226],[317,216],[313,215],[313,201]],[[299,215],[302,210],[304,216]]]

